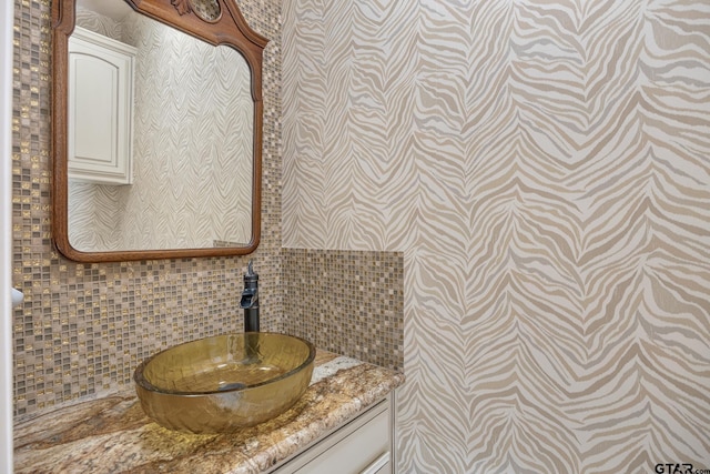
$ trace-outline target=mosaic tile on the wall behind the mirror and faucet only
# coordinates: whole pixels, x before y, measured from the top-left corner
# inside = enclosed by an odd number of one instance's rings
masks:
[[[262,241],[243,258],[79,264],[51,242],[51,2],[16,0],[13,63],[13,311],[16,415],[130,383],[145,356],[242,329],[250,259],[261,276],[262,326],[281,311],[281,31],[277,0],[239,1],[270,39],[264,53]]]

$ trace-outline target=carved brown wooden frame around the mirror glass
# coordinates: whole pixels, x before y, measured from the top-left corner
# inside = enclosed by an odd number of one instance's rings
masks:
[[[252,178],[252,239],[244,246],[160,249],[135,251],[84,252],[69,241],[69,175],[68,175],[68,73],[69,37],[75,24],[75,0],[52,2],[53,20],[53,209],[52,233],[58,250],[68,259],[79,262],[116,262],[129,260],[181,259],[194,256],[243,255],[253,252],[261,236],[261,179],[262,179],[262,62],[267,39],[252,30],[240,12],[235,0],[125,0],[135,11],[164,24],[199,38],[213,46],[230,46],[246,60],[251,71],[251,93],[254,100],[253,178]],[[217,6],[212,14],[205,7]]]

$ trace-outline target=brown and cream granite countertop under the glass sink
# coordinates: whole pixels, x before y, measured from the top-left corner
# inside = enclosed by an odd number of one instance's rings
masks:
[[[14,472],[258,473],[306,447],[404,382],[387,369],[318,351],[311,386],[281,416],[231,434],[170,431],[132,386],[14,424]]]

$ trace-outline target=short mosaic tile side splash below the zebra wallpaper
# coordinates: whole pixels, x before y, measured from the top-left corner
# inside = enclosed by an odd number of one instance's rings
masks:
[[[284,330],[316,346],[404,366],[404,254],[284,249]]]

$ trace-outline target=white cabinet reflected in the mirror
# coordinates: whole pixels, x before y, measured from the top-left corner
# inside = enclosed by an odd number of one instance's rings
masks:
[[[70,179],[131,183],[135,51],[80,27],[70,37]]]

